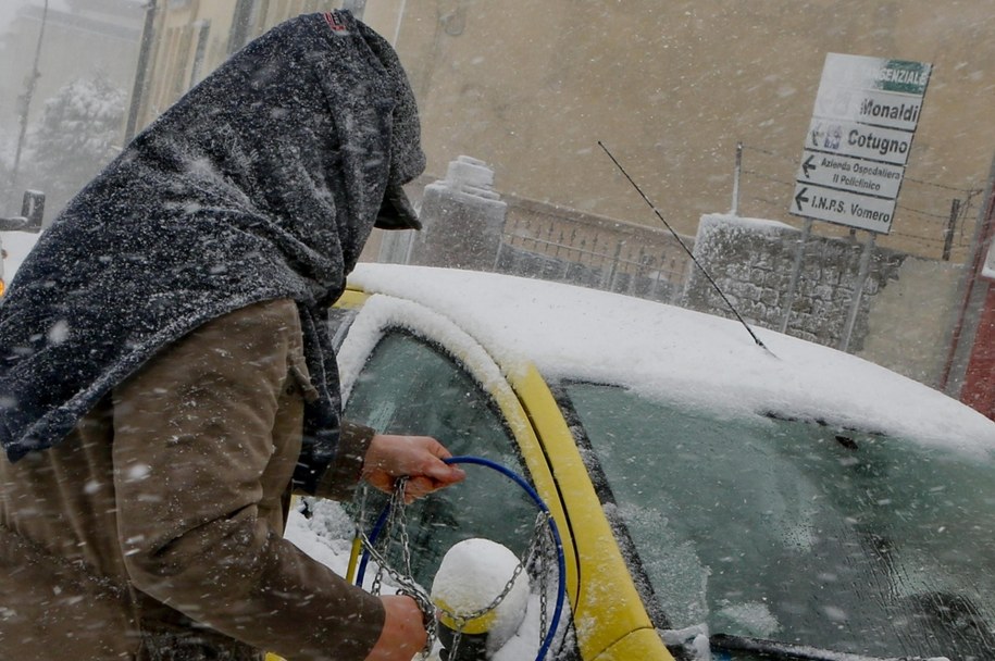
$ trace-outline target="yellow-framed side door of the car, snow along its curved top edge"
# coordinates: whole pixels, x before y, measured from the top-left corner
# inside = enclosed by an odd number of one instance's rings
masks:
[[[338,356],[347,419],[381,433],[433,436],[456,456],[500,464],[534,485],[564,521],[532,424],[478,342],[431,310],[385,296],[347,297],[333,316],[344,337]],[[530,496],[507,476],[475,464],[464,470],[464,483],[406,508],[411,573],[425,587],[455,544],[484,537],[522,558],[542,523]],[[355,508],[363,511],[366,529],[385,504],[373,490],[358,496]],[[561,538],[572,557],[569,532]],[[396,561],[400,551],[395,549]],[[576,585],[575,563],[568,564]],[[555,585],[555,563],[549,568],[546,577]],[[557,658],[576,657],[564,648]]]

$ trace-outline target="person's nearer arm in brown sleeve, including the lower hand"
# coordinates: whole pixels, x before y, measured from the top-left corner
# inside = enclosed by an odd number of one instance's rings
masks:
[[[126,566],[138,589],[288,659],[360,660],[376,648],[403,654],[424,643],[421,614],[405,614],[413,601],[390,598],[399,601],[385,609],[387,598],[350,586],[264,514],[278,504],[271,501],[289,484],[298,452],[274,445],[274,427],[301,415],[300,400],[284,392],[296,320],[290,301],[225,315],[115,389]],[[282,410],[287,401],[298,408]]]

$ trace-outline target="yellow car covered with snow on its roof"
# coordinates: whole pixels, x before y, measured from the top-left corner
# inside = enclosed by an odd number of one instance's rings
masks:
[[[569,608],[545,658],[995,658],[995,423],[959,402],[774,332],[496,274],[361,264],[334,323],[347,417],[548,504]],[[527,552],[533,503],[467,472],[407,509],[421,585],[462,539]]]

